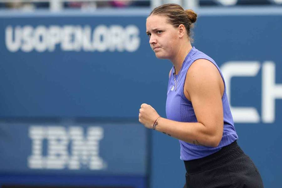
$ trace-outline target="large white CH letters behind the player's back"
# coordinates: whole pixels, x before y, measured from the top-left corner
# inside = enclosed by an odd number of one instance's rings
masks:
[[[234,76],[256,76],[260,69],[258,61],[228,61],[221,66],[226,82],[226,91],[231,101],[231,78]],[[262,121],[273,123],[275,121],[275,99],[282,99],[282,84],[275,84],[275,64],[266,61],[262,65]],[[232,107],[233,120],[237,123],[259,123],[260,117],[254,107]]]

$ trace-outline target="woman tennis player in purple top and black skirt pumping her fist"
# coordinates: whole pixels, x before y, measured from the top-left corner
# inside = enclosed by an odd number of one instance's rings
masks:
[[[179,139],[186,168],[184,188],[261,188],[252,160],[236,140],[226,86],[215,61],[191,46],[197,14],[177,4],[155,8],[146,21],[149,43],[159,59],[169,59],[166,118],[142,104],[139,121]],[[209,31],[206,31],[209,32]]]

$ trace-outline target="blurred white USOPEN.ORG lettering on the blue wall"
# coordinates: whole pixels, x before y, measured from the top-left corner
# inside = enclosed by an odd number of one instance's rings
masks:
[[[8,26],[5,30],[5,44],[10,52],[50,52],[60,44],[63,51],[128,51],[134,52],[140,46],[139,29],[136,25],[39,25]]]

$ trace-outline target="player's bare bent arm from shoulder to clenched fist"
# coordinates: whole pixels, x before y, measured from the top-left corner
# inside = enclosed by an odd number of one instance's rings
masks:
[[[187,71],[184,90],[191,99],[197,123],[159,118],[155,129],[191,144],[217,147],[223,133],[222,82],[215,65],[208,60],[196,60]],[[139,112],[140,123],[153,128],[159,117],[155,109],[142,104]]]

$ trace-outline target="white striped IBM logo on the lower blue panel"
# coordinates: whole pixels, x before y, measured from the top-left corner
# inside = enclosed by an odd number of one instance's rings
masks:
[[[32,153],[28,157],[28,167],[79,170],[86,166],[90,170],[105,169],[107,165],[99,156],[99,141],[103,138],[103,129],[89,127],[86,135],[85,138],[83,128],[77,126],[29,127]],[[47,151],[45,151],[44,142],[47,145]]]

